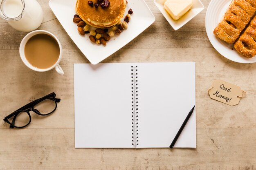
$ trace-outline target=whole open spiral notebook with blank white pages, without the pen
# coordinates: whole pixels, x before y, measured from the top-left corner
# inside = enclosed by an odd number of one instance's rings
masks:
[[[74,64],[76,148],[168,148],[195,105],[195,63]],[[174,147],[196,147],[195,110]]]

